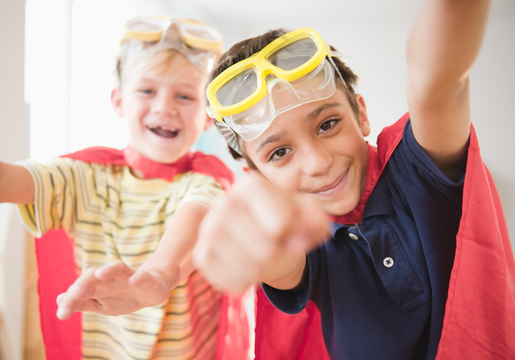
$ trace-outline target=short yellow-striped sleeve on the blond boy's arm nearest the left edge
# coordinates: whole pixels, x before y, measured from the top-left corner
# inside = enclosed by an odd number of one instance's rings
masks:
[[[73,228],[77,186],[80,176],[73,160],[58,158],[43,165],[32,160],[18,163],[34,181],[34,202],[18,205],[18,213],[27,230],[41,237],[50,229]]]

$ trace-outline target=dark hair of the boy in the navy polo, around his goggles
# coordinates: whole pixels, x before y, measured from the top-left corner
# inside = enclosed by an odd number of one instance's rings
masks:
[[[209,76],[209,82],[213,81],[218,75],[220,75],[222,72],[224,72],[226,69],[231,67],[232,65],[243,61],[255,53],[261,51],[265,46],[270,44],[275,39],[283,36],[284,34],[287,34],[288,31],[284,29],[274,29],[269,30],[263,35],[256,36],[254,38],[246,39],[243,41],[240,41],[239,43],[234,44],[228,51],[226,51],[218,60],[218,63],[215,65],[214,69],[211,71],[211,74]],[[331,46],[331,50],[335,50],[334,47]],[[338,68],[338,71],[340,72],[343,80],[345,81],[345,84],[347,86],[344,86],[343,84],[340,86],[343,91],[345,92],[345,95],[347,96],[347,99],[351,105],[351,108],[353,112],[355,113],[356,117],[359,119],[359,108],[356,100],[354,99],[354,88],[353,85],[356,85],[356,82],[358,80],[358,77],[356,74],[352,72],[352,70],[345,65],[343,61],[340,59],[333,57],[334,64]],[[339,81],[336,82],[337,85],[340,84]],[[240,141],[240,137],[236,134],[237,141]],[[243,156],[238,154],[236,151],[234,151],[230,146],[229,152],[231,153],[232,157],[236,160],[241,159],[242,157],[247,161],[248,165],[252,169],[256,169],[255,165],[252,163],[252,161],[246,156],[245,152],[243,152]],[[240,148],[243,148],[240,146]]]

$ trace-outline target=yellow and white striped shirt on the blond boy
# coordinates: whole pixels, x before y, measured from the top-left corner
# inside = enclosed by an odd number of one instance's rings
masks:
[[[184,203],[210,204],[223,193],[211,177],[185,173],[173,182],[141,180],[127,166],[58,158],[20,162],[35,185],[35,203],[19,205],[36,237],[64,229],[78,273],[122,260],[137,269],[156,250]],[[83,359],[213,359],[221,294],[194,271],[169,299],[127,315],[82,315]]]

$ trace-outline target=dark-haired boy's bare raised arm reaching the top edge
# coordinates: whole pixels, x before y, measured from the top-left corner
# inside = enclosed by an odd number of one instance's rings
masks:
[[[427,0],[408,40],[413,133],[451,178],[465,167],[469,72],[481,47],[489,6],[489,0]]]

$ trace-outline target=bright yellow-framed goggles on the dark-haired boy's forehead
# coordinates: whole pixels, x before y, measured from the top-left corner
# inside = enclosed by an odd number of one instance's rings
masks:
[[[326,99],[336,90],[329,46],[313,29],[291,31],[218,75],[207,88],[206,111],[238,153],[234,133],[245,141],[260,136],[278,115]]]

